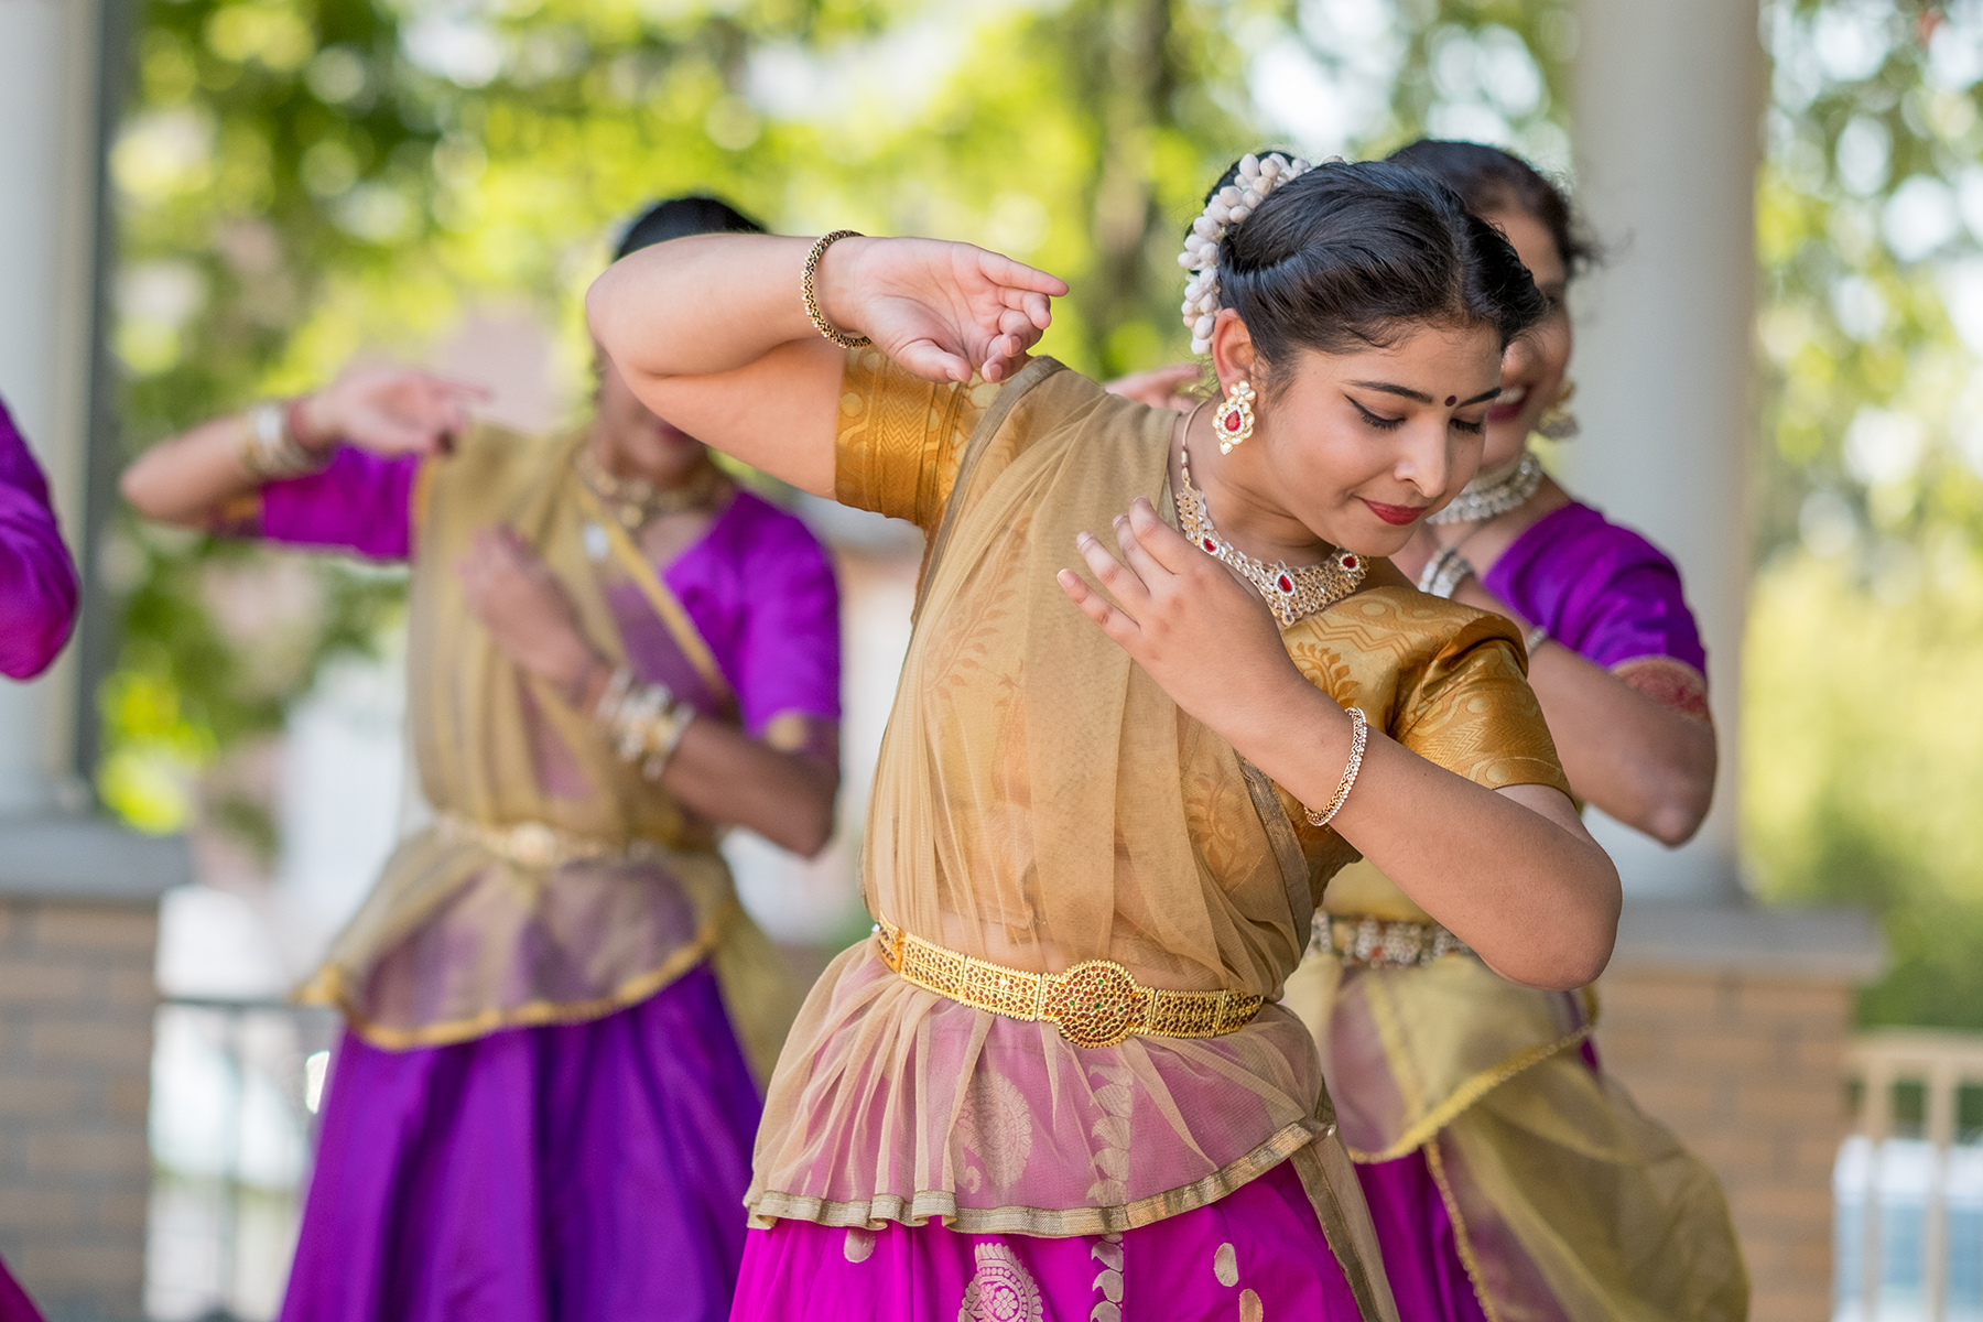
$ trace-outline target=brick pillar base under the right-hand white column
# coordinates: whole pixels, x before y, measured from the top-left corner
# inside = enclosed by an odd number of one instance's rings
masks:
[[[1600,995],[1604,1068],[1727,1189],[1753,1322],[1826,1322],[1850,981],[1634,967]]]

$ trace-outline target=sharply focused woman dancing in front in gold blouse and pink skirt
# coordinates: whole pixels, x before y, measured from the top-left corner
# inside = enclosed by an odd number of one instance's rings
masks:
[[[736,1318],[1394,1316],[1273,1005],[1315,894],[1360,850],[1521,983],[1608,957],[1519,634],[1366,561],[1473,476],[1533,281],[1392,165],[1247,157],[1188,242],[1190,420],[1029,361],[1065,285],[966,244],[706,236],[593,285],[652,408],[932,533],[876,934],[779,1058]]]

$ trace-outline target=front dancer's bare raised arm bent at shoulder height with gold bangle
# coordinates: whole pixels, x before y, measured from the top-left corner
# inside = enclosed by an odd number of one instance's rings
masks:
[[[617,262],[585,295],[593,337],[641,400],[724,454],[833,496],[841,349],[801,297],[813,240],[698,234]],[[1047,329],[1059,279],[920,238],[843,238],[813,272],[829,327],[930,381],[1003,381]]]

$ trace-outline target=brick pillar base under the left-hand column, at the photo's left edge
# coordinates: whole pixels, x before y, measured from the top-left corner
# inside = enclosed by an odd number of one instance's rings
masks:
[[[50,1322],[143,1316],[157,904],[0,900],[0,1257]]]

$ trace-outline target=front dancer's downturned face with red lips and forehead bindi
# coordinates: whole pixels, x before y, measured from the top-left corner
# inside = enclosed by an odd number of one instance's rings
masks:
[[[1231,317],[1231,313],[1225,313]],[[1239,375],[1251,343],[1222,345],[1220,381]],[[1222,349],[1225,353],[1222,353]],[[1392,555],[1424,517],[1459,494],[1481,464],[1487,408],[1501,375],[1491,327],[1426,325],[1388,349],[1297,351],[1253,406],[1253,438],[1222,464],[1227,482],[1358,555]]]

